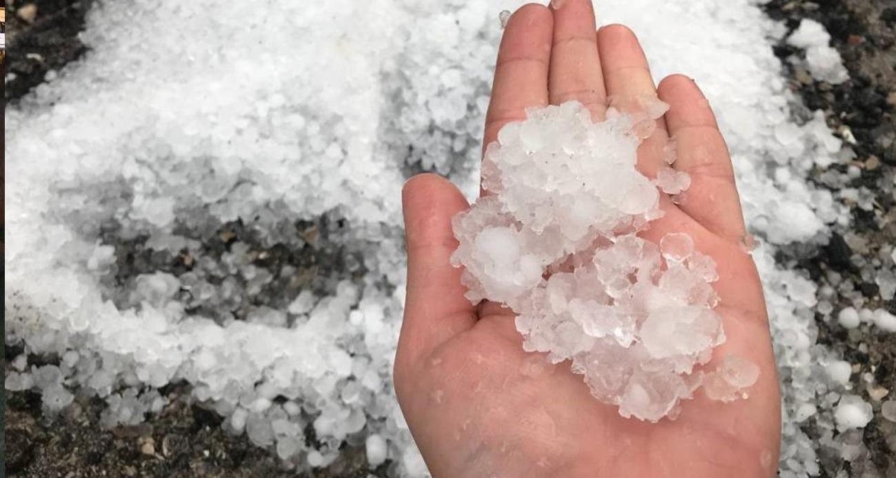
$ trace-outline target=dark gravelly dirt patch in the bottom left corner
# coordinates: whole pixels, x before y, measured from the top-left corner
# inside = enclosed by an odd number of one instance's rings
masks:
[[[170,404],[150,422],[102,430],[104,403],[81,396],[65,413],[48,420],[40,411],[40,395],[7,392],[4,411],[6,474],[68,478],[211,478],[296,477],[280,460],[257,448],[245,436],[221,429],[217,413],[194,403],[189,390],[169,386]],[[386,465],[375,470],[385,476]],[[339,460],[325,470],[299,474],[308,478],[366,478],[364,450],[344,448]]]

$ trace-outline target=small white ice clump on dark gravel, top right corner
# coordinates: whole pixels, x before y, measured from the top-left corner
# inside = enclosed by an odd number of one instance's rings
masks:
[[[831,48],[831,34],[824,30],[821,23],[804,18],[787,42],[794,47],[806,49],[806,65],[814,79],[834,84],[849,79],[840,53]]]

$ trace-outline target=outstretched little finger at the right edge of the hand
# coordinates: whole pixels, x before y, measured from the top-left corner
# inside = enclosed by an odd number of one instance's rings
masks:
[[[659,98],[669,104],[666,124],[677,144],[673,166],[691,175],[679,207],[706,229],[740,240],[745,227],[734,169],[709,101],[694,80],[679,74],[659,83]]]

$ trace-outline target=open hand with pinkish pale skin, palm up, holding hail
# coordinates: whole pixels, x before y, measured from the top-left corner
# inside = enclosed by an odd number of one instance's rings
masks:
[[[579,100],[596,119],[607,98],[659,95],[670,105],[639,149],[639,169],[653,176],[670,136],[676,169],[691,175],[683,204],[661,200],[665,217],[642,232],[657,241],[684,231],[718,264],[714,286],[727,342],[714,351],[758,364],[749,398],[723,404],[698,390],[675,421],[640,422],[589,393],[563,362],[532,373],[538,355],[523,352],[513,311],[470,304],[451,218],[469,204],[434,175],[403,190],[408,291],[395,358],[395,390],[418,447],[436,478],[771,477],[780,451],[780,392],[762,287],[745,235],[727,146],[709,103],[691,79],[672,75],[655,86],[631,30],[596,31],[589,0],[560,8],[528,4],[504,30],[485,143],[525,118],[525,109]],[[524,373],[525,372],[525,373]],[[534,376],[533,376],[534,375]]]

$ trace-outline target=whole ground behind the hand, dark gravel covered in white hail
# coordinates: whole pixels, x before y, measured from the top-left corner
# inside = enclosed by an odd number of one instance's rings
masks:
[[[4,79],[6,471],[425,474],[390,381],[399,191],[435,170],[474,196],[518,5],[33,5]],[[762,241],[780,474],[892,475],[896,12],[596,6],[719,114]]]

